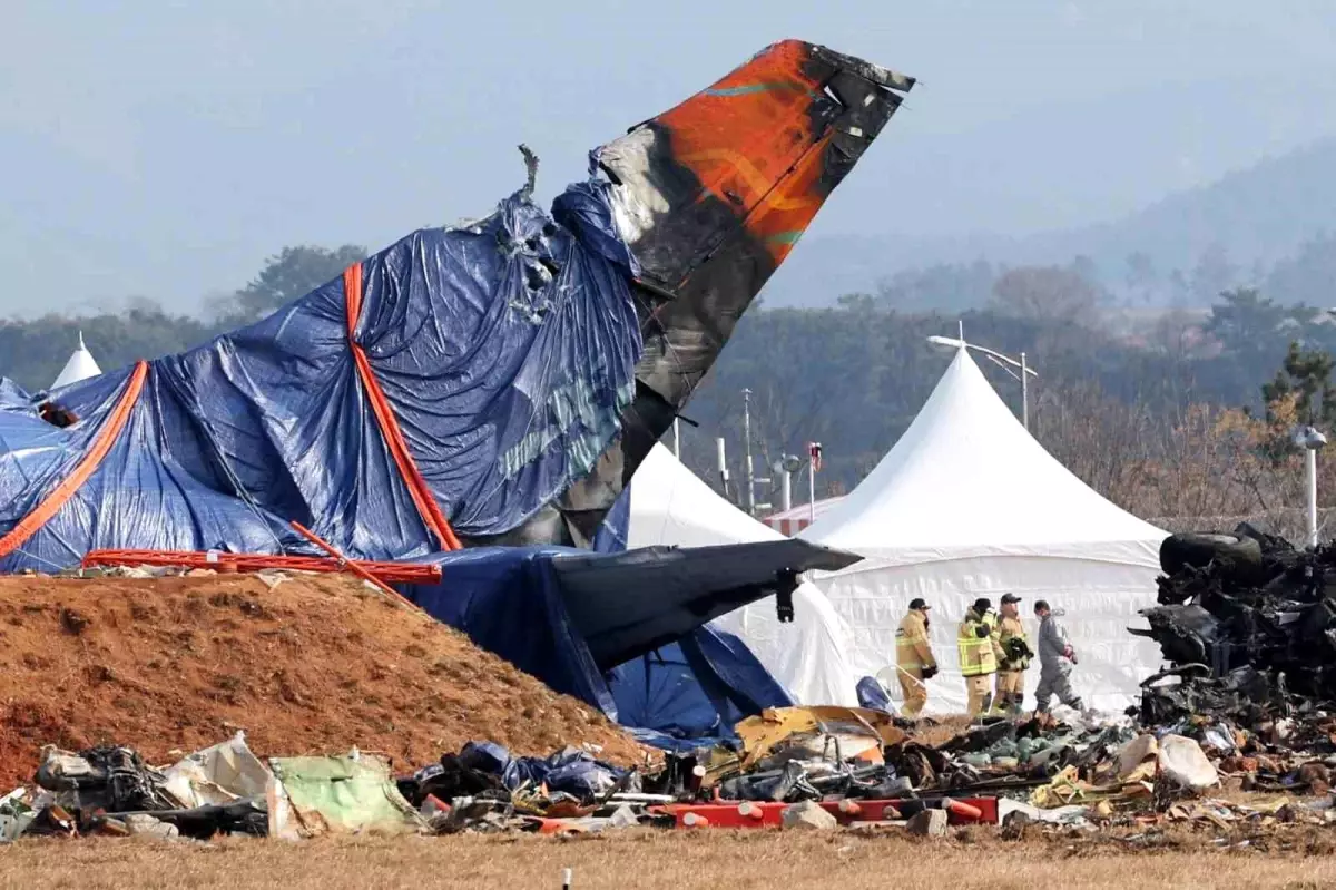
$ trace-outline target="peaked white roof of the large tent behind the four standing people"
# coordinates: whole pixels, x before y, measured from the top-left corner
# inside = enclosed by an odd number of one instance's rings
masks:
[[[1053,457],[962,350],[876,468],[800,536],[906,563],[999,552],[1125,561],[1129,551],[1153,563],[1165,532]]]

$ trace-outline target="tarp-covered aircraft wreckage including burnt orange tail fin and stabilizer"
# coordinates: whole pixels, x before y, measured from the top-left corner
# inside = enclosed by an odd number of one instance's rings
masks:
[[[778,43],[595,150],[550,215],[526,151],[529,184],[490,216],[415,231],[248,327],[37,397],[0,385],[0,573],[428,563],[441,580],[415,601],[505,648],[481,604],[526,596],[581,641],[568,674],[770,595],[783,613],[800,572],[856,557],[584,548],[912,86]],[[502,655],[608,710],[596,682]]]

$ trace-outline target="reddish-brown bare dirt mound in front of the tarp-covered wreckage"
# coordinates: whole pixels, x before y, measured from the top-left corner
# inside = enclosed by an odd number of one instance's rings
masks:
[[[398,768],[469,739],[640,758],[601,714],[346,577],[0,577],[0,792],[43,744],[166,763],[236,730],[261,756],[355,744]]]

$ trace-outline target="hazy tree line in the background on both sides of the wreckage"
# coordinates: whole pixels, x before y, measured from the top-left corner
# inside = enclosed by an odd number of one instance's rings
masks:
[[[0,376],[40,390],[80,330],[107,369],[190,349],[309,293],[365,253],[353,245],[287,247],[207,318],[138,303],[122,313],[0,321]],[[1300,251],[1267,281],[1291,287],[1292,295],[1308,285],[1285,282],[1325,274],[1313,270],[1327,269],[1327,255],[1336,251]],[[1218,285],[1229,279],[1225,265],[1218,255],[1204,258],[1189,281]],[[1141,261],[1129,259],[1128,271],[1129,287],[1160,281]],[[934,279],[949,283],[958,298],[950,302],[979,306],[907,310],[896,303],[912,301],[887,297],[938,287]],[[832,309],[748,311],[684,412],[696,424],[681,425],[685,462],[713,481],[713,440],[723,436],[737,478],[741,390],[749,389],[759,474],[770,474],[783,454],[804,454],[815,440],[824,445],[819,494],[850,490],[904,432],[946,369],[950,354],[927,337],[954,335],[958,323],[967,339],[1026,353],[1039,374],[1030,392],[1038,440],[1141,514],[1280,509],[1292,501],[1287,486],[1297,484],[1285,476],[1295,468],[1287,424],[1308,418],[1336,426],[1329,381],[1336,325],[1325,311],[1273,299],[1260,287],[1228,287],[1209,309],[1144,311],[1120,306],[1081,259],[934,267],[894,281],[880,294],[844,295]],[[1019,412],[1015,381],[987,362],[981,367]],[[803,500],[806,484],[795,494]],[[776,496],[763,486],[759,498]]]

